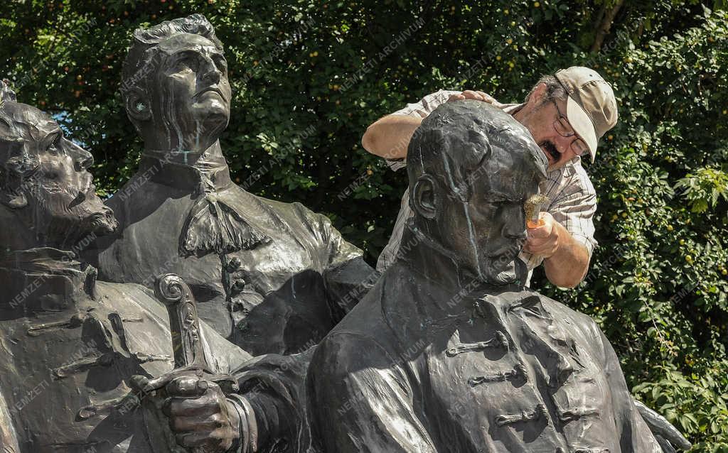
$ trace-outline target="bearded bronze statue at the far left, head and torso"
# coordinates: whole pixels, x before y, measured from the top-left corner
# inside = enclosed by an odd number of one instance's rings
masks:
[[[166,422],[143,417],[130,378],[173,368],[167,310],[77,259],[116,226],[95,195],[93,158],[0,89],[0,450],[158,453],[164,439],[150,433]],[[214,372],[250,358],[213,329],[201,335]]]

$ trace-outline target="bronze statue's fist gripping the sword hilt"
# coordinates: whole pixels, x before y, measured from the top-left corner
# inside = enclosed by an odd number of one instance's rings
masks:
[[[240,438],[240,417],[214,382],[181,376],[167,387],[162,412],[177,444],[207,453],[227,452]]]

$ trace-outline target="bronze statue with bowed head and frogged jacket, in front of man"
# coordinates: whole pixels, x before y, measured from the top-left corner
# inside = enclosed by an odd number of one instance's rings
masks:
[[[473,100],[421,128],[412,245],[309,366],[323,451],[660,452],[596,323],[523,287],[547,167],[526,129]]]

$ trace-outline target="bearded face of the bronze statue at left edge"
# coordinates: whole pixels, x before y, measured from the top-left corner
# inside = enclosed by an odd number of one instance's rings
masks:
[[[8,156],[4,172],[23,162],[25,176],[17,180],[28,201],[19,209],[28,227],[46,245],[74,245],[90,233],[105,234],[116,228],[114,213],[95,193],[90,153],[63,137],[58,123],[24,104],[8,104],[12,124],[0,127],[0,156]],[[18,168],[18,167],[15,167]]]

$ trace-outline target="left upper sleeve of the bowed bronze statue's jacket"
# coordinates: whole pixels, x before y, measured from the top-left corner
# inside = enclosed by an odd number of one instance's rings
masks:
[[[360,334],[334,334],[309,368],[309,407],[324,452],[435,453],[397,359]]]

